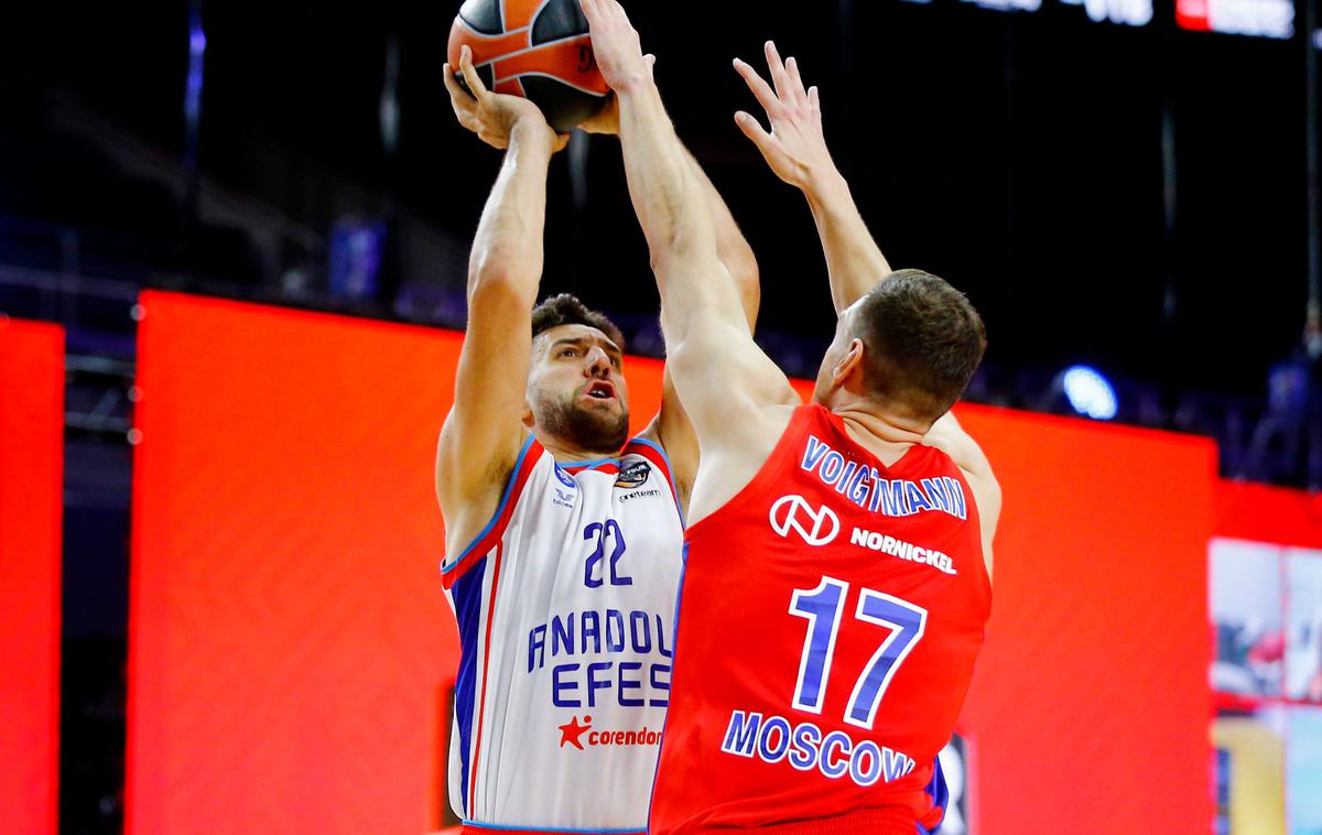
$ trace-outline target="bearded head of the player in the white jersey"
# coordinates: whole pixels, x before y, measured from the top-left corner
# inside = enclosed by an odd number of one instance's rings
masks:
[[[623,359],[624,334],[604,314],[568,293],[537,305],[525,423],[583,452],[619,452],[629,432]]]

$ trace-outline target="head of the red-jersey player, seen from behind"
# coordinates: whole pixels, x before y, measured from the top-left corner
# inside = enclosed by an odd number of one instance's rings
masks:
[[[986,350],[969,300],[921,270],[899,270],[846,309],[813,399],[845,392],[915,424],[931,424],[968,388]]]

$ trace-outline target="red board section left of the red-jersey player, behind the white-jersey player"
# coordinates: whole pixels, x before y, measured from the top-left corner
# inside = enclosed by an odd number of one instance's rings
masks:
[[[457,658],[431,468],[461,336],[141,301],[128,831],[418,835]],[[639,423],[660,363],[629,378]]]

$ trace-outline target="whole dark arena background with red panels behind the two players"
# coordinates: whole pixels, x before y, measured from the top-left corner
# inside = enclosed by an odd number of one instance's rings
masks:
[[[941,832],[1322,834],[1322,0],[629,0],[812,378],[802,200],[732,120],[775,38],[898,267],[989,330],[1005,489]],[[435,433],[501,155],[457,3],[0,8],[0,832],[420,834],[457,642]],[[616,140],[543,293],[657,295]]]

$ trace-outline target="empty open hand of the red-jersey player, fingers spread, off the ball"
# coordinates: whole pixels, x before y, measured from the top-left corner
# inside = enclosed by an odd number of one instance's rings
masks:
[[[735,71],[767,111],[771,132],[742,110],[735,114],[735,123],[758,145],[777,177],[805,189],[816,173],[834,168],[822,135],[821,100],[817,87],[804,90],[804,79],[798,75],[798,62],[795,58],[783,62],[772,41],[767,41],[765,52],[775,90],[763,81],[758,70],[739,58],[735,58]]]

